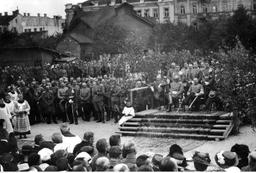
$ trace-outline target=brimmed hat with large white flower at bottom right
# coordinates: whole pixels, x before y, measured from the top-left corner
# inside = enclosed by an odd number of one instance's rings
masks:
[[[224,169],[235,167],[239,162],[236,155],[230,151],[220,151],[215,154],[214,159],[218,166]]]

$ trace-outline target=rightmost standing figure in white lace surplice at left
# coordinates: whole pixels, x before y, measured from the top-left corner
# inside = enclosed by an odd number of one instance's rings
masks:
[[[14,126],[14,134],[24,136],[27,138],[27,134],[30,134],[30,121],[28,120],[28,114],[30,114],[30,105],[23,99],[23,95],[19,94],[19,100],[14,104],[14,112],[16,115],[16,123]]]

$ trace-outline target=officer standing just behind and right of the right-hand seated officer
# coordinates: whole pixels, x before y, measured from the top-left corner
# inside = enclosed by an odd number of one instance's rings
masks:
[[[208,62],[205,62],[204,66],[202,70],[202,85],[204,88],[204,99],[206,100],[209,97],[210,91],[213,90],[215,74]]]

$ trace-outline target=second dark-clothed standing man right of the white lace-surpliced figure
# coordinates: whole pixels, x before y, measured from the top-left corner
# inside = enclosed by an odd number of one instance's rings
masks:
[[[38,82],[35,82],[35,93],[34,93],[34,97],[35,97],[35,101],[36,101],[36,105],[38,107],[38,110],[39,110],[39,114],[36,114],[36,122],[41,122],[41,116],[42,117],[45,117],[44,116],[44,108],[43,108],[43,100],[42,100],[42,97],[43,97],[43,88],[41,86],[39,86],[39,83]]]

